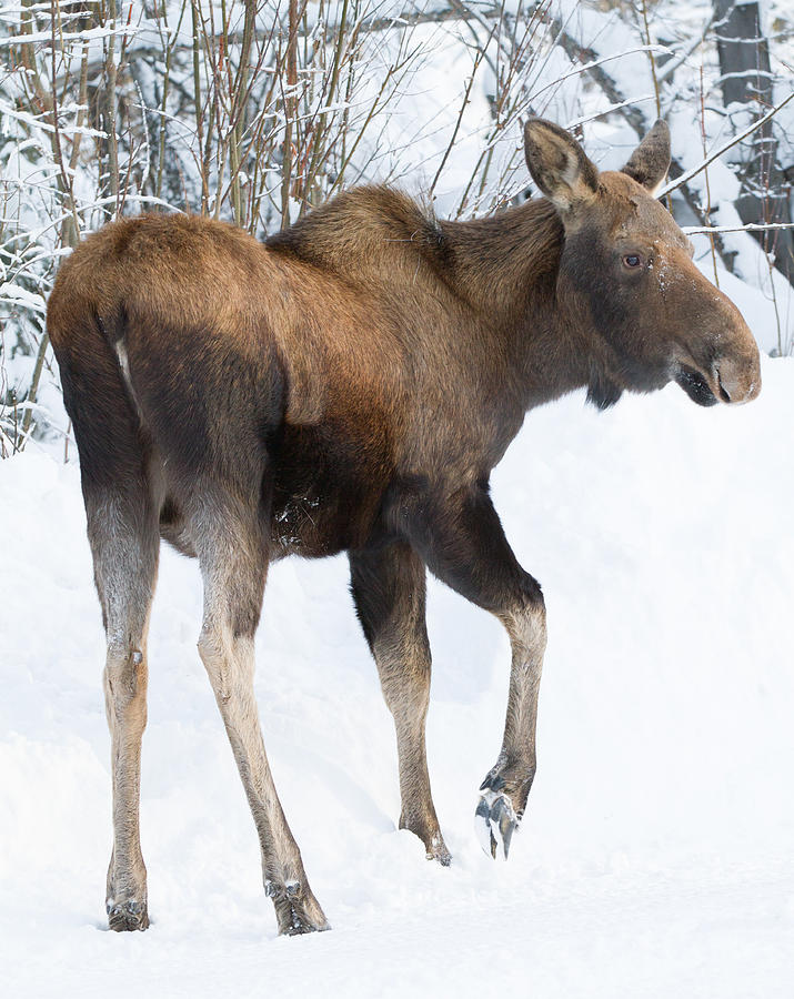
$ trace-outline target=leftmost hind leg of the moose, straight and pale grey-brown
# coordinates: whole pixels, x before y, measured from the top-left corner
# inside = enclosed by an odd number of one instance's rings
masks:
[[[88,535],[107,635],[104,700],[111,736],[113,849],[105,905],[112,930],[149,926],[141,854],[141,739],[147,724],[147,632],[159,537],[144,486],[87,492]]]

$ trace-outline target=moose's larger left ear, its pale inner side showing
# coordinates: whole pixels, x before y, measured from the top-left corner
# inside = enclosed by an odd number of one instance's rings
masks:
[[[599,171],[565,129],[531,118],[524,125],[524,153],[532,180],[561,212],[595,196]]]

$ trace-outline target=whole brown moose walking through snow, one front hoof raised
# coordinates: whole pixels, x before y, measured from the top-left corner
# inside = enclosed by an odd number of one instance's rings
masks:
[[[122,219],[61,265],[48,329],[107,635],[112,929],[149,925],[140,749],[161,538],[199,559],[199,653],[279,931],[322,930],[254,698],[269,564],[348,553],[396,728],[400,827],[442,865],[425,757],[426,569],[502,623],[506,722],[476,820],[491,855],[506,857],[535,774],[546,628],[491,471],[529,410],[575,389],[600,408],[671,381],[703,406],[758,394],[750,330],[654,198],[667,127],[620,172],[600,172],[543,119],[527,121],[524,148],[543,196],[490,218],[442,221],[400,191],[363,186],[263,242],[195,215]]]

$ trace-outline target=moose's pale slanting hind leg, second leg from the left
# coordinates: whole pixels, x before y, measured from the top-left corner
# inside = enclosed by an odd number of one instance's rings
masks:
[[[287,824],[264,751],[253,689],[254,632],[267,575],[267,541],[244,513],[215,515],[197,532],[204,581],[199,653],[210,677],[245,788],[262,850],[264,890],[279,932],[328,929],[309,887],[298,844]]]

